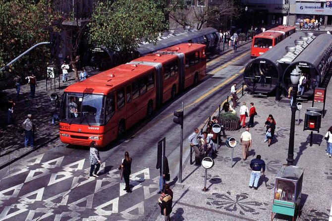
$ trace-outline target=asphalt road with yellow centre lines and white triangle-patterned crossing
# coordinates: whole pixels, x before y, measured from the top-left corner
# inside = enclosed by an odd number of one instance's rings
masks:
[[[67,146],[59,140],[0,170],[0,220],[156,220],[157,143],[162,138],[166,137],[171,180],[177,180],[179,168],[180,126],[172,122],[173,111],[180,110],[184,102],[185,162],[187,137],[218,108],[233,82],[242,83],[241,73],[249,61],[247,44],[208,62],[208,77],[199,85],[179,94],[150,119],[136,124],[125,139],[101,151],[103,164],[97,179],[88,178],[88,148]],[[117,169],[125,151],[133,158],[132,193],[122,190],[124,181]]]

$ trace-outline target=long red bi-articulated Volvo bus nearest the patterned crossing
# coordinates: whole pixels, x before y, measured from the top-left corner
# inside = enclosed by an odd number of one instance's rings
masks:
[[[180,44],[121,64],[64,90],[62,143],[105,147],[206,75],[205,45]]]

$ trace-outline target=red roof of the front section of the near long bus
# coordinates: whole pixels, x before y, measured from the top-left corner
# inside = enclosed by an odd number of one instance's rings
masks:
[[[107,95],[110,91],[125,85],[128,81],[154,69],[153,66],[147,65],[121,64],[86,80],[69,85],[64,89],[64,92]]]

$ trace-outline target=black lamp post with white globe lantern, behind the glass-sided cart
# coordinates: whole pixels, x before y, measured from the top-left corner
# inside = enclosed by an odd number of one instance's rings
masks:
[[[300,73],[295,68],[290,73],[290,81],[292,83],[292,96],[293,101],[291,104],[292,116],[290,120],[290,133],[289,133],[289,143],[288,143],[288,158],[286,159],[287,165],[293,165],[294,162],[294,133],[295,133],[295,113],[296,113],[296,97],[297,97],[297,85],[300,80]]]

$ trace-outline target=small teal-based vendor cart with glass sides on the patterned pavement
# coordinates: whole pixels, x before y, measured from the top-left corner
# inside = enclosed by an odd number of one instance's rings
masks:
[[[277,172],[271,220],[273,213],[291,216],[293,221],[300,214],[303,171],[301,167],[284,165]]]

